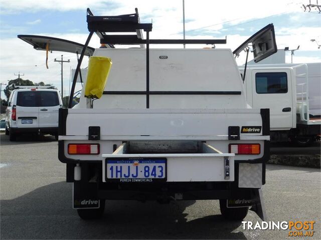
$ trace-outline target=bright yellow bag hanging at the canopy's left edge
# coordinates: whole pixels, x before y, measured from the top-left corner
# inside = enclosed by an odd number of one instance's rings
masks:
[[[91,56],[88,62],[88,74],[85,97],[100,98],[105,89],[111,68],[111,59],[105,56]]]

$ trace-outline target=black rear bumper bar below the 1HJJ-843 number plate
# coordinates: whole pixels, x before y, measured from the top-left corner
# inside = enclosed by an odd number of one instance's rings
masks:
[[[75,182],[76,184],[81,183]],[[162,185],[148,183],[138,183],[136,186],[122,184],[119,186],[110,186],[100,184],[97,189],[99,199],[109,200],[207,200],[207,199],[228,199],[228,198],[251,198],[253,188],[238,188],[236,184],[225,182],[175,182],[164,183]],[[151,188],[152,187],[152,188]]]

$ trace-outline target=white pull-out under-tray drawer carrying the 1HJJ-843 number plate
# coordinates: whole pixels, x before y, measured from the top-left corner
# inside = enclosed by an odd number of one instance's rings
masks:
[[[171,153],[165,153],[164,145],[125,142],[112,154],[102,154],[103,181],[234,181],[234,153],[197,141],[170,142]]]

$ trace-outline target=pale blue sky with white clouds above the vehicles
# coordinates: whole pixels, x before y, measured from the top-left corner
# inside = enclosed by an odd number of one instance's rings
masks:
[[[316,0],[311,0],[311,3],[316,3]],[[294,63],[321,62],[321,48],[318,48],[321,44],[321,13],[313,8],[304,12],[302,4],[309,2],[185,0],[186,39],[227,37],[227,44],[216,47],[234,50],[256,31],[273,23],[278,49],[286,46],[294,49],[300,45],[294,52]],[[0,0],[0,82],[6,84],[8,80],[17,78],[20,72],[23,79],[44,81],[61,90],[61,65],[54,59],[60,60],[63,54],[64,60],[70,59],[70,63],[63,64],[64,95],[69,95],[71,68],[76,68],[77,56],[58,51],[49,53],[47,69],[46,52],[33,49],[17,35],[46,35],[84,44],[89,33],[87,7],[94,15],[129,14],[134,13],[137,7],[140,21],[152,22],[150,38],[183,39],[183,0]],[[99,47],[99,38],[93,36],[89,45]],[[166,47],[183,48],[183,45]],[[244,64],[245,54],[236,61],[239,65]],[[286,62],[290,61],[290,52],[286,52]],[[88,57],[85,57],[82,67],[87,63]]]

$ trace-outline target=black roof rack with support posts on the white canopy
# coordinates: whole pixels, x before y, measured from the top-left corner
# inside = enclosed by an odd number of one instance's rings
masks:
[[[152,23],[140,23],[138,10],[135,8],[135,13],[116,15],[116,16],[94,16],[89,8],[87,8],[87,23],[89,35],[83,47],[82,53],[79,57],[76,67],[74,79],[70,95],[74,95],[78,72],[84,57],[85,50],[94,32],[100,38],[100,43],[108,44],[109,47],[114,48],[115,44],[140,44],[146,45],[146,108],[149,108],[149,44],[225,44],[225,39],[149,39],[149,32],[152,30]],[[146,39],[142,38],[142,30],[146,32]],[[135,34],[116,34],[107,35],[106,32],[135,32]],[[175,94],[178,94],[177,92]],[[73,97],[69,98],[68,107],[72,106]]]

